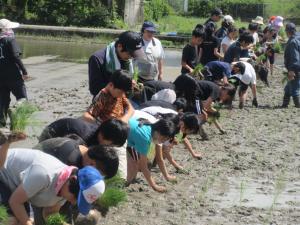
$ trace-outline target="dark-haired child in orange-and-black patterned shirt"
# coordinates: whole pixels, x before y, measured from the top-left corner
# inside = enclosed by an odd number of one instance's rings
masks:
[[[103,122],[117,118],[128,122],[133,114],[133,107],[125,93],[132,90],[132,79],[125,70],[117,70],[110,82],[93,99],[83,118],[88,122]]]

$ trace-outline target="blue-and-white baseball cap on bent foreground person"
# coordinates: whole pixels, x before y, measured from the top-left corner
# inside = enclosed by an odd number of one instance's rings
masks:
[[[77,206],[81,214],[87,215],[92,207],[92,203],[104,193],[104,177],[96,168],[86,166],[78,171],[78,181],[80,190]]]

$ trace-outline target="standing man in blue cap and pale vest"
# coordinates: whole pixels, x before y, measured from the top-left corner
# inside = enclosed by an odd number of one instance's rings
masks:
[[[154,37],[156,33],[155,25],[150,21],[144,22],[141,33],[146,60],[136,60],[139,69],[139,81],[154,80],[156,77],[158,77],[158,80],[162,80],[165,54],[160,41]]]

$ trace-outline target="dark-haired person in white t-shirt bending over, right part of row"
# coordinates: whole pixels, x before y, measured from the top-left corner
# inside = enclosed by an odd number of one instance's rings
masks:
[[[245,100],[247,97],[247,89],[250,86],[252,90],[253,100],[252,105],[258,107],[256,97],[256,73],[253,66],[247,62],[237,62],[232,67],[234,76],[240,79],[239,97],[240,103],[239,108],[244,108]]]

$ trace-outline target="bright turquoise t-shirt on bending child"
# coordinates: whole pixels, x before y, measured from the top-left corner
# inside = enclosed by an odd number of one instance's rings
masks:
[[[139,126],[139,121],[131,118],[129,124],[129,135],[127,144],[129,147],[133,147],[138,153],[147,156],[151,145],[151,126],[143,125]]]

